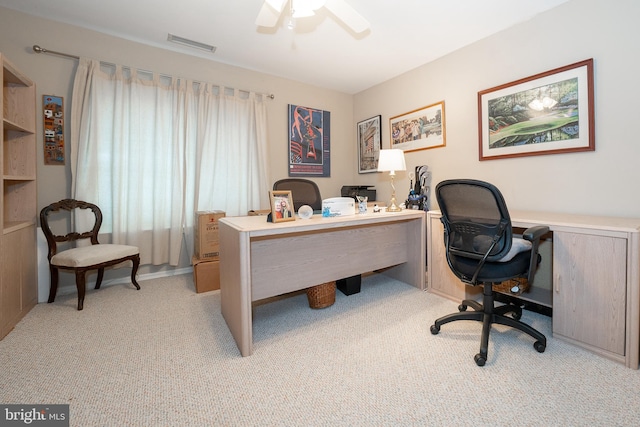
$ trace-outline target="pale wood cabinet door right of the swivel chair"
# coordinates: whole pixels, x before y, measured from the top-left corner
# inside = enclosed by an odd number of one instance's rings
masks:
[[[627,239],[553,233],[553,333],[625,354]]]

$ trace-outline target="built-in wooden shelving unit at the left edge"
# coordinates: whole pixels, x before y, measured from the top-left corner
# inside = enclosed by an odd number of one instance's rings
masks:
[[[0,339],[37,302],[35,84],[2,62]]]

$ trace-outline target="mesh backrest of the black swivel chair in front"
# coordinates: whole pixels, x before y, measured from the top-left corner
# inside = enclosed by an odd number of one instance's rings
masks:
[[[436,186],[447,255],[498,261],[511,249],[513,231],[500,191],[484,181],[448,180]]]

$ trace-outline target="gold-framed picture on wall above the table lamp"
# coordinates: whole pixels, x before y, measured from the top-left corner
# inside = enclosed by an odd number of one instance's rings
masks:
[[[444,101],[389,119],[391,148],[405,152],[446,145]]]

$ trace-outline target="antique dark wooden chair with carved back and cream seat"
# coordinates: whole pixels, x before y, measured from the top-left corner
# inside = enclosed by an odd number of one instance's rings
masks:
[[[71,230],[64,234],[54,234],[51,229],[50,216],[55,213],[65,213],[65,217],[61,219],[65,224],[72,224],[70,216],[75,209],[90,210],[94,215],[94,223],[90,231],[78,232]],[[78,310],[82,310],[84,306],[84,296],[86,291],[86,275],[89,271],[97,270],[98,277],[96,279],[95,289],[100,289],[102,278],[104,277],[104,269],[126,261],[132,262],[131,282],[140,289],[140,285],[136,281],[138,266],[140,265],[140,251],[136,246],[100,244],[98,242],[98,232],[102,225],[102,212],[98,206],[79,200],[65,199],[49,206],[44,207],[40,211],[40,225],[47,239],[49,252],[47,258],[49,260],[49,272],[51,273],[51,282],[49,289],[49,300],[55,301],[56,292],[58,290],[59,270],[71,270],[76,275],[76,287],[78,288]],[[65,232],[68,231],[64,226]],[[82,247],[73,247],[62,250],[59,244],[74,244],[79,240],[89,240],[91,245]]]

